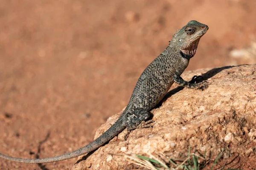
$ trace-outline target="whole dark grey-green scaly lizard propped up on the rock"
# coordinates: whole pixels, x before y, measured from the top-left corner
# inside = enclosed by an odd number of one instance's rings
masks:
[[[152,113],[150,112],[167,94],[172,84],[176,82],[186,88],[204,89],[209,83],[195,81],[187,82],[180,75],[189,64],[189,60],[194,57],[199,40],[207,32],[209,27],[198,21],[192,20],[176,31],[166,49],[155,58],[143,71],[138,79],[131,98],[116,122],[93,142],[60,156],[41,159],[21,159],[6,156],[0,153],[0,157],[11,161],[23,163],[47,163],[62,161],[78,157],[101,147],[109,142],[113,137],[127,128],[128,133],[138,127],[147,125]]]

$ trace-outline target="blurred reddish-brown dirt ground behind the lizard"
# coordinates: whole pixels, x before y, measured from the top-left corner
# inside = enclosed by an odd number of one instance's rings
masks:
[[[187,70],[253,64],[255,0],[0,0],[0,152],[57,156],[92,141],[189,20],[209,26]],[[256,168],[241,159],[248,169]],[[252,158],[250,162],[256,160]],[[71,169],[76,158],[3,170]]]

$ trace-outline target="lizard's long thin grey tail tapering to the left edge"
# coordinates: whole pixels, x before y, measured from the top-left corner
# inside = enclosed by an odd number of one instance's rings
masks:
[[[41,159],[21,159],[21,158],[13,158],[11,156],[6,156],[0,153],[0,157],[3,159],[8,159],[11,161],[29,163],[29,164],[38,164],[38,163],[47,163],[47,162],[55,162],[62,161],[65,159],[75,158],[80,155],[84,155],[89,153],[97,148],[101,147],[103,144],[110,141],[114,136],[118,135],[122,130],[125,129],[125,125],[122,119],[118,119],[105,133],[103,133],[99,138],[95,139],[93,142],[87,144],[84,147],[81,147],[78,150],[74,150],[70,153],[65,153],[60,156],[49,157],[49,158],[41,158]]]

